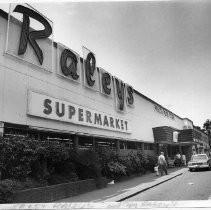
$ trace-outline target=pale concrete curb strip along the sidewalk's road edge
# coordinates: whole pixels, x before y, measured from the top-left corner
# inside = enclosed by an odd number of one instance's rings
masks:
[[[129,190],[128,192],[122,193],[120,195],[111,197],[109,199],[106,200],[102,200],[102,202],[120,202],[120,201],[124,201],[130,197],[133,197],[141,192],[144,192],[150,188],[153,188],[155,186],[158,186],[164,182],[167,182],[171,179],[174,179],[180,175],[182,175],[184,172],[186,172],[188,169],[187,168],[183,168],[179,171],[173,172],[172,174],[166,175],[166,176],[162,176],[160,177],[158,180],[155,180],[153,182],[150,183],[143,183],[141,185],[138,185],[137,187],[134,187],[132,190]]]

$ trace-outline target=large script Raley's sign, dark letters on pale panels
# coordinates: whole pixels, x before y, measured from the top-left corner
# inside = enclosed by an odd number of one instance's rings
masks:
[[[19,27],[21,27],[19,37],[14,37],[15,33],[12,31],[14,29],[11,24],[14,18],[11,15],[9,16],[6,53],[52,72],[54,48],[53,41],[50,42],[48,38],[53,33],[53,23],[29,5],[23,6],[18,4],[10,11],[10,14],[22,15],[22,23],[20,24],[21,21],[19,21]],[[36,20],[44,29],[32,29],[30,20]],[[48,43],[47,49],[46,46],[43,47],[43,41]],[[15,44],[11,46],[11,43],[14,42]],[[29,45],[30,52],[29,50],[27,51]],[[46,58],[47,52],[52,52],[52,56]],[[51,60],[48,60],[49,57],[51,57]],[[57,44],[56,57],[57,74],[63,78],[69,79],[70,82],[83,83],[84,86],[94,91],[99,91],[107,97],[114,97],[118,111],[125,112],[126,107],[134,106],[134,90],[132,86],[112,76],[102,68],[97,68],[96,57],[92,51],[83,47],[82,67],[80,56],[60,43]],[[49,69],[50,65],[51,68]],[[82,76],[83,81],[81,79]]]

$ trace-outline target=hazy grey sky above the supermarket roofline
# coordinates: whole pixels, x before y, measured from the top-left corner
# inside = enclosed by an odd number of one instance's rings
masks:
[[[87,47],[98,67],[196,126],[211,119],[211,1],[30,5],[53,21],[54,41],[81,57]]]

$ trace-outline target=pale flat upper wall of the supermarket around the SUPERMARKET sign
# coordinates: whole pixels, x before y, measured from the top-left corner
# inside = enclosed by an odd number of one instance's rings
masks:
[[[27,52],[21,57],[32,60],[37,66],[6,54],[7,20],[0,17],[0,25],[0,121],[146,142],[154,142],[153,127],[171,126],[179,130],[183,129],[184,122],[180,117],[174,115],[172,119],[157,112],[156,103],[137,92],[134,93],[134,107],[127,106],[126,112],[122,113],[115,109],[115,96],[106,97],[99,91],[85,87],[83,78],[81,83],[76,83],[61,77],[57,74],[59,59],[55,45],[52,72],[39,67],[37,57],[29,44]],[[10,53],[17,54],[20,31],[21,24],[12,19],[8,43]],[[44,66],[51,66],[51,41],[39,40],[38,43],[44,52]],[[129,120],[132,132],[121,133],[29,116],[27,115],[29,90]]]

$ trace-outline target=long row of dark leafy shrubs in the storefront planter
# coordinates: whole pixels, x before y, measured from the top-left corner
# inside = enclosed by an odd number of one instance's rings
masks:
[[[26,188],[106,176],[118,179],[153,170],[157,157],[141,152],[121,156],[108,148],[79,150],[59,142],[23,137],[0,139],[0,202]]]

